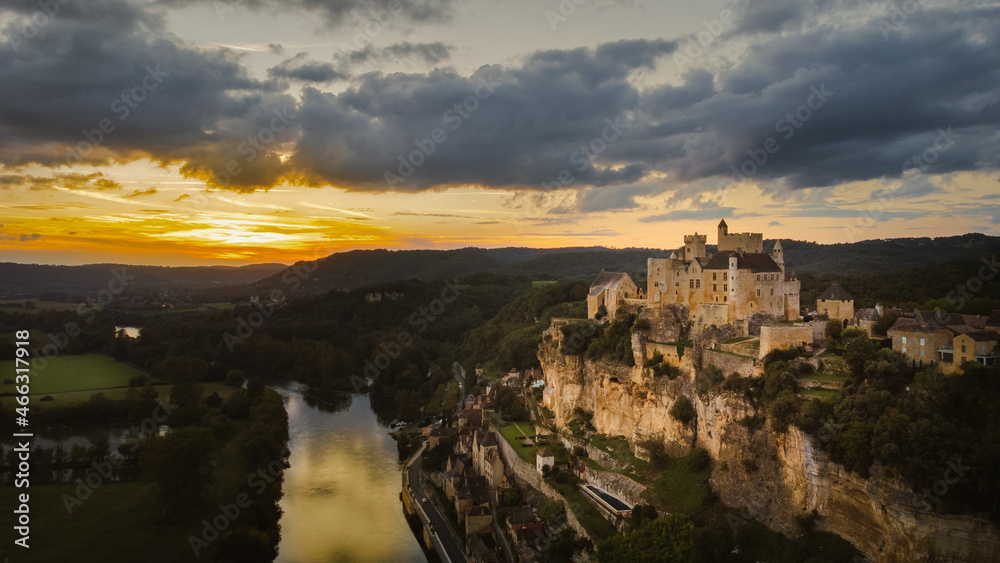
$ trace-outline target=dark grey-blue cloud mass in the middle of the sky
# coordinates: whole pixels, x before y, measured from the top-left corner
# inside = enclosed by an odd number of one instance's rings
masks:
[[[367,190],[463,183],[541,189],[564,170],[579,186],[631,182],[645,164],[611,168],[600,158],[625,154],[625,145],[609,140],[626,136],[622,114],[639,105],[630,75],[672,48],[621,41],[541,51],[521,66],[484,66],[470,77],[372,73],[337,96],[308,90],[292,164],[313,183]],[[433,142],[435,130],[442,142]],[[605,150],[586,158],[601,137],[596,146]],[[387,182],[386,173],[404,181]]]

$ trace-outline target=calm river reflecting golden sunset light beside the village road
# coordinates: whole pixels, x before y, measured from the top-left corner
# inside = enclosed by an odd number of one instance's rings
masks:
[[[307,401],[305,385],[272,388],[287,398],[291,435],[275,561],[426,562],[399,502],[396,443],[368,396]]]

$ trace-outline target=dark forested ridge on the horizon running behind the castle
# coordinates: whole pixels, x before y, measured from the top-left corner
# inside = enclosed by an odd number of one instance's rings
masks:
[[[774,240],[764,242],[770,252]],[[782,239],[790,270],[813,275],[889,273],[955,259],[979,258],[1000,251],[1000,237],[972,233],[954,237],[902,238],[851,244],[817,244]],[[666,258],[672,250],[626,248],[462,248],[458,250],[355,250],[320,259],[299,290],[307,292],[353,289],[400,279],[431,280],[476,273],[504,274],[532,280],[590,279],[602,269],[624,271],[645,285],[646,260]],[[715,251],[709,245],[707,251]],[[251,285],[252,291],[291,287],[297,264]]]

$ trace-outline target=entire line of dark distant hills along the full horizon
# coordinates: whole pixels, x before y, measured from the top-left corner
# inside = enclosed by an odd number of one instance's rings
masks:
[[[764,241],[770,252],[774,240]],[[813,276],[857,276],[890,273],[978,259],[1000,251],[1000,237],[971,233],[953,237],[868,240],[850,244],[817,244],[782,239],[789,271]],[[434,280],[492,273],[531,280],[592,279],[602,270],[628,272],[645,285],[646,260],[666,258],[675,249],[604,247],[461,248],[457,250],[353,250],[319,259],[305,274],[304,263],[254,264],[243,267],[168,268],[92,264],[41,266],[0,263],[0,295],[39,292],[93,293],[107,286],[112,270],[136,276],[133,289],[174,289],[217,295],[220,300],[273,289],[321,293],[378,285],[397,280]],[[715,251],[709,245],[707,251]],[[311,269],[311,268],[310,268]],[[301,273],[301,276],[300,276]],[[303,279],[304,278],[304,279]],[[298,280],[294,282],[293,280]]]

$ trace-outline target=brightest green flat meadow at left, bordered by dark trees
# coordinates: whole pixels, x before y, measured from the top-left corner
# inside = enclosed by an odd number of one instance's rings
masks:
[[[129,378],[146,373],[103,354],[56,356],[48,360],[44,370],[37,370],[35,366],[38,363],[37,360],[32,362],[31,395],[125,387]],[[16,374],[14,369],[13,360],[0,362],[0,373],[4,378],[13,379]],[[12,393],[14,387],[13,384],[0,385],[0,392]]]

